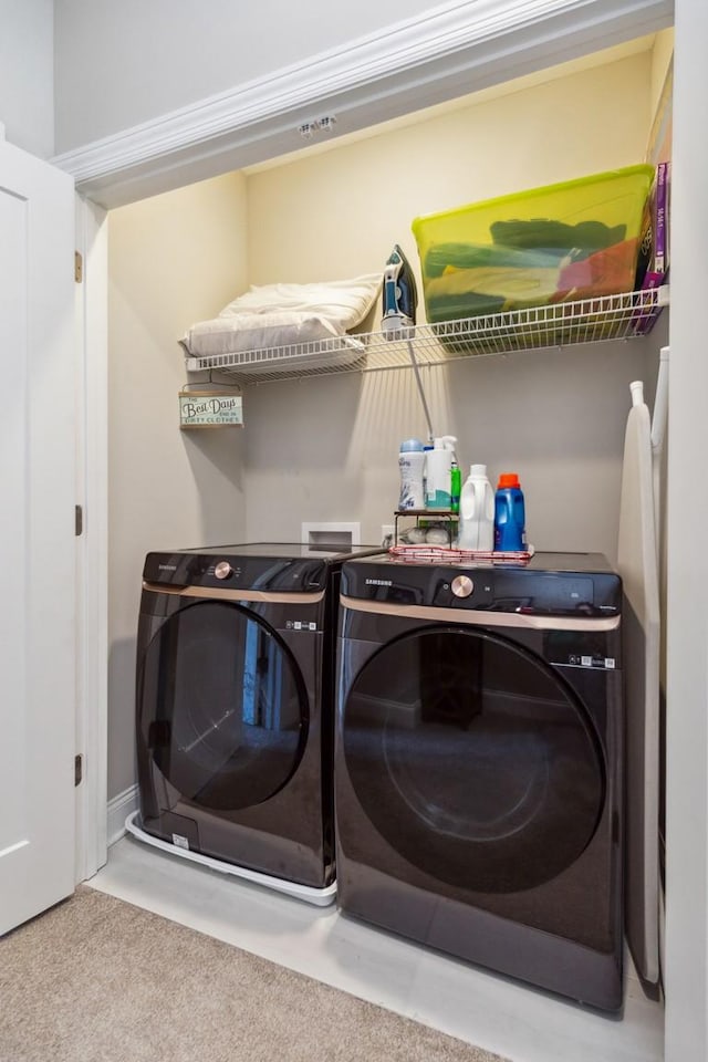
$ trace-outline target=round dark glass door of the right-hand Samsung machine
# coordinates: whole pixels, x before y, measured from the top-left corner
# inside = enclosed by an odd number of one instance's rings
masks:
[[[519,645],[427,627],[352,684],[343,751],[371,822],[448,885],[532,888],[584,851],[605,801],[595,729],[564,680]]]

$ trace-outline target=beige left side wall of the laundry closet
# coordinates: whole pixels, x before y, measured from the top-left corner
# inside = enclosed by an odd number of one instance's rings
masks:
[[[241,428],[180,431],[178,339],[247,282],[236,174],[108,216],[108,795],[134,782],[135,636],[149,550],[240,541]]]

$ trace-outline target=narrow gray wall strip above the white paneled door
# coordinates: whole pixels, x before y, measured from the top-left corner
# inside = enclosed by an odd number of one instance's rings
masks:
[[[0,0],[0,122],[6,139],[54,154],[52,0]]]

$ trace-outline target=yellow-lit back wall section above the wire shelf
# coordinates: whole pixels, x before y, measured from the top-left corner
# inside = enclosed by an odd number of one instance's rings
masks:
[[[418,215],[643,162],[650,72],[645,51],[254,173],[251,282],[381,269],[395,242],[417,266]]]

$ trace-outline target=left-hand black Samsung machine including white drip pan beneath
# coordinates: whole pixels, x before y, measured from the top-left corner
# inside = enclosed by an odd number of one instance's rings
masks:
[[[335,894],[334,654],[347,553],[148,553],[137,635],[144,841],[312,903]]]

